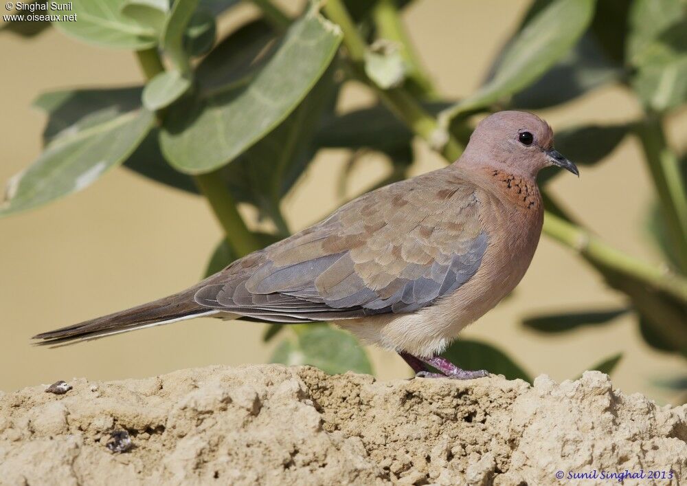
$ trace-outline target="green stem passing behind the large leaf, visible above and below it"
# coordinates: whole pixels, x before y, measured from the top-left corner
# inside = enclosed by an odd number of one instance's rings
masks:
[[[139,64],[146,78],[157,76],[165,70],[157,47],[136,51]],[[196,186],[210,203],[215,216],[219,220],[227,239],[227,243],[238,256],[244,256],[259,250],[261,245],[253,233],[251,233],[238,210],[236,201],[227,190],[218,170],[201,175],[195,175]]]

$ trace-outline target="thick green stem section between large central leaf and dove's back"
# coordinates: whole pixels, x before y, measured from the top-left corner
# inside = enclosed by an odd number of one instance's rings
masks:
[[[201,190],[224,229],[227,241],[232,250],[238,256],[244,256],[255,250],[259,250],[261,245],[253,233],[246,227],[246,223],[238,214],[236,201],[227,190],[227,186],[222,180],[218,170],[207,174],[200,174],[194,177],[196,186]]]

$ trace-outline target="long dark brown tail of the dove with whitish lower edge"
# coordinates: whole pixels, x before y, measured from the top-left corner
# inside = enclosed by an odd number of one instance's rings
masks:
[[[194,302],[193,294],[186,290],[138,307],[126,309],[126,311],[111,313],[100,318],[37,334],[34,339],[39,340],[36,342],[39,345],[87,341],[103,338],[106,335],[169,324],[178,320],[210,316],[217,312]]]

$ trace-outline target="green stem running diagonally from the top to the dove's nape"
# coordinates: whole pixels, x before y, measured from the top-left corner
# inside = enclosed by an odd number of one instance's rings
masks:
[[[341,0],[328,0],[324,5],[324,13],[341,27],[343,45],[346,46],[348,56],[354,64],[355,76],[372,87],[387,108],[407,124],[416,135],[426,140],[431,148],[440,151],[451,161],[458,159],[463,151],[462,144],[451,133],[442,129],[437,120],[427,113],[411,94],[403,87],[385,91],[365,76],[362,65],[365,62],[365,50],[368,47]]]

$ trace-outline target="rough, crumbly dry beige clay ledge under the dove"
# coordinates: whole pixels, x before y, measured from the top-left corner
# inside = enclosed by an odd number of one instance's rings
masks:
[[[530,386],[211,366],[70,384],[0,395],[1,484],[619,484],[567,478],[594,470],[687,483],[686,407],[623,395],[598,372]],[[118,430],[126,452],[106,447]]]

